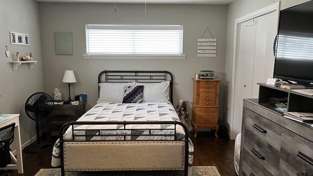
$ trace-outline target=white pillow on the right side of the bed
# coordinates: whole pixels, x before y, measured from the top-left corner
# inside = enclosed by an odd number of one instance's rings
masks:
[[[143,102],[166,102],[170,99],[170,81],[136,83],[135,86],[143,86]]]

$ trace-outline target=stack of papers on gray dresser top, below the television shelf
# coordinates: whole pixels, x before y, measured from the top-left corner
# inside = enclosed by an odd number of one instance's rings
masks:
[[[313,127],[313,113],[311,112],[285,112],[284,117]]]

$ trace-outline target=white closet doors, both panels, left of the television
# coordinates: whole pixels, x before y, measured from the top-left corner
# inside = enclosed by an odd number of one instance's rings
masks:
[[[277,32],[277,13],[271,12],[240,25],[235,129],[241,132],[244,98],[258,98],[259,85],[273,77],[273,42]]]

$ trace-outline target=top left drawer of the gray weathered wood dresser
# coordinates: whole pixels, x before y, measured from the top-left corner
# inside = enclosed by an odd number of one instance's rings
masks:
[[[249,109],[245,110],[245,133],[279,151],[282,127]]]

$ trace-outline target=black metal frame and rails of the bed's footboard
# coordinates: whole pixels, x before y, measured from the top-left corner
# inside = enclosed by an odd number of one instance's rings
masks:
[[[82,125],[92,125],[92,129],[79,129],[75,127],[81,127]],[[106,125],[117,125],[118,129],[103,129]],[[146,125],[158,125],[158,127],[167,126],[167,128],[147,128]],[[168,128],[168,125],[170,127]],[[102,126],[102,128],[100,128]],[[140,128],[130,129],[130,126],[141,126]],[[178,127],[181,126],[184,134],[178,132]],[[99,128],[98,128],[99,127]],[[70,128],[70,139],[64,138],[64,133]],[[179,127],[180,128],[180,127]],[[139,132],[140,131],[140,132]],[[165,133],[162,133],[166,131]],[[148,139],[144,139],[147,136]],[[103,139],[107,138],[109,139]],[[110,137],[113,137],[111,139]],[[155,138],[163,137],[161,140]],[[140,138],[140,140],[138,140]],[[82,121],[72,121],[62,126],[60,130],[60,156],[61,156],[61,171],[62,176],[65,176],[65,164],[64,164],[64,143],[72,142],[99,142],[99,141],[135,141],[135,142],[156,142],[157,141],[178,141],[183,142],[184,145],[184,175],[188,175],[188,129],[187,127],[178,121],[107,121],[107,122],[82,122]],[[76,143],[75,143],[76,144]],[[180,145],[181,145],[180,144]],[[182,146],[183,146],[182,145]],[[166,169],[164,169],[166,170]]]

